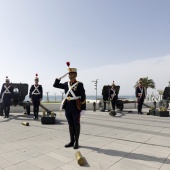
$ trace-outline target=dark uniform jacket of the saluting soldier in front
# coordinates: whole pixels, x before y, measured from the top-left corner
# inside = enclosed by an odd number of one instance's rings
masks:
[[[77,81],[75,81],[73,84],[75,84]],[[70,83],[70,82],[69,82]],[[71,84],[71,86],[73,85]],[[60,89],[64,89],[65,90],[65,94],[67,93],[69,87],[68,87],[68,82],[65,82],[65,83],[60,83],[60,80],[59,79],[56,79],[54,84],[53,84],[53,87],[56,87],[56,88],[60,88]],[[75,96],[80,96],[80,103],[81,103],[81,110],[86,110],[86,94],[85,94],[85,89],[84,89],[84,86],[83,86],[83,83],[82,82],[78,82],[77,85],[75,85],[72,89],[73,93],[75,94]],[[73,97],[72,94],[69,92],[68,94],[68,97]],[[65,104],[64,104],[64,109],[69,109],[69,108],[72,108],[72,107],[67,107],[67,105],[70,105],[70,102],[72,103],[72,105],[75,105],[76,107],[76,101],[75,100],[68,100],[66,99],[65,101]]]

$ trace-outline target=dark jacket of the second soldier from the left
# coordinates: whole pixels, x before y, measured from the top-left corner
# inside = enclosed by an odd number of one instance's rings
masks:
[[[29,92],[29,98],[31,98],[32,100],[42,99],[43,98],[42,86],[39,85],[39,84],[38,84],[38,86],[32,85],[31,88],[30,88],[30,92]]]

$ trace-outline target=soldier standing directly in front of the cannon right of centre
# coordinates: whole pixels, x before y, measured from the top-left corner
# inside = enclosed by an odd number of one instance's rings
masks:
[[[117,99],[118,99],[118,93],[117,93],[115,87],[116,86],[115,86],[115,83],[113,81],[112,86],[109,89],[109,99],[111,100],[113,111],[115,111],[115,106],[116,106],[116,102],[117,102]]]

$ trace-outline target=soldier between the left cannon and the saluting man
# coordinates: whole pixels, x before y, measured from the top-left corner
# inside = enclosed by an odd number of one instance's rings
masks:
[[[39,82],[39,78],[38,78],[38,74],[36,74],[35,84],[31,86],[29,92],[29,97],[33,104],[34,120],[38,119],[39,106],[43,98],[43,88],[40,84],[38,84],[38,82]]]

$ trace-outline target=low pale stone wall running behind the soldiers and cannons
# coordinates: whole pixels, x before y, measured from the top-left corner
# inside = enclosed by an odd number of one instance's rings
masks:
[[[154,107],[153,102],[147,102],[147,105],[149,105],[150,107]],[[60,104],[54,104],[54,103],[50,103],[50,104],[43,104],[45,107],[47,107],[49,110],[51,111],[59,111],[60,108]],[[158,105],[158,104],[157,104]],[[128,104],[124,104],[124,109],[134,109],[136,108],[137,105],[136,103],[128,103]],[[146,107],[146,106],[143,106]],[[99,110],[98,104],[96,106],[96,109]],[[107,109],[107,108],[106,108]],[[93,104],[92,103],[87,103],[86,105],[86,110],[93,110]],[[33,111],[33,107],[31,106],[31,112]],[[40,112],[43,111],[43,109],[40,107]],[[21,106],[11,106],[11,113],[20,113],[20,112],[24,112],[24,108]]]

